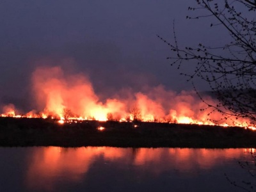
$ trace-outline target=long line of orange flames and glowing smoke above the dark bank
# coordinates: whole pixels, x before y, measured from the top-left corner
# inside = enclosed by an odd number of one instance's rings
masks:
[[[214,125],[212,120],[222,117],[218,112],[209,116],[211,109],[200,110],[206,106],[195,92],[176,93],[161,85],[145,86],[141,92],[123,89],[113,97],[102,99],[95,93],[88,77],[65,74],[60,67],[38,67],[31,79],[37,108],[22,115],[13,104],[8,104],[3,107],[1,116],[52,118],[60,124],[81,120],[138,120],[200,125]],[[211,97],[205,101],[216,102]],[[246,120],[222,120],[219,125],[255,129]]]

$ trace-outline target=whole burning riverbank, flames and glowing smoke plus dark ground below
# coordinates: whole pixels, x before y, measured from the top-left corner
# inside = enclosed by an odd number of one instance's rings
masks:
[[[140,92],[124,88],[104,98],[88,77],[60,67],[38,67],[31,80],[35,109],[3,106],[1,146],[256,147],[252,123],[223,118],[195,92],[159,85]]]

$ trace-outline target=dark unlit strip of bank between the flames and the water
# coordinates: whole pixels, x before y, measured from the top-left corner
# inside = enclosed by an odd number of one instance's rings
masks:
[[[59,124],[42,118],[0,117],[0,146],[256,148],[256,131],[153,122]]]

